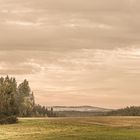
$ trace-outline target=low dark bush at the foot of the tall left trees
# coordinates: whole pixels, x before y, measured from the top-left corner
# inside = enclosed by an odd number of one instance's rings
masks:
[[[0,119],[0,124],[14,124],[17,123],[18,119],[16,116],[5,116]]]

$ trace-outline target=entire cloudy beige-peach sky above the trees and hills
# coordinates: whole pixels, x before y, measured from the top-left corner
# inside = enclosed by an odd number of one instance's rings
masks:
[[[140,0],[0,0],[0,76],[42,105],[140,105]]]

